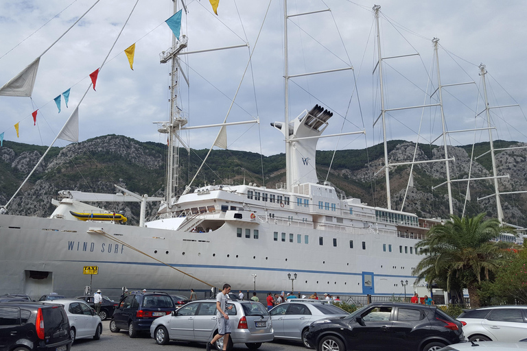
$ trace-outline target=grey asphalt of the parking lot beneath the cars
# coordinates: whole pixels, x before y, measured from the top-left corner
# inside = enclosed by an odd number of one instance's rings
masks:
[[[174,350],[178,351],[204,351],[204,343],[187,343],[180,341],[170,341],[167,346],[156,344],[148,334],[140,335],[135,339],[128,337],[126,330],[121,332],[110,332],[110,321],[102,322],[103,330],[101,339],[95,341],[91,339],[80,339],[73,343],[71,350],[75,351],[93,351],[93,350],[111,350],[111,351],[161,351]],[[233,350],[248,351],[245,345],[235,345]],[[307,349],[301,343],[289,341],[273,341],[264,343],[259,351],[306,351]]]

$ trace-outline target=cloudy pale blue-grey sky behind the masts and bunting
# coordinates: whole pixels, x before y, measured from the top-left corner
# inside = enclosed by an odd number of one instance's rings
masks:
[[[179,0],[178,0],[179,1]],[[110,52],[136,0],[101,0],[93,10],[45,53],[32,98],[0,96],[0,133],[4,140],[49,145],[91,85],[89,73],[108,56],[97,80],[79,106],[79,137],[84,141],[122,134],[139,141],[166,142],[154,121],[169,114],[169,64],[159,53],[171,45],[164,21],[172,14],[170,0],[139,0]],[[0,1],[0,86],[30,64],[75,22],[95,0]],[[382,142],[377,42],[372,7],[375,1],[289,1],[288,14],[314,12],[288,19],[290,75],[344,69],[290,80],[289,116],[293,119],[315,104],[333,112],[324,134],[366,132],[323,138],[319,149],[362,149]],[[178,107],[189,126],[254,121],[228,129],[229,149],[262,153],[285,152],[283,135],[270,126],[284,120],[283,2],[221,0],[218,16],[208,0],[185,0],[182,34],[187,51],[244,45],[235,49],[182,56]],[[450,132],[486,128],[480,69],[486,65],[489,106],[526,105],[527,2],[385,1],[380,35],[385,108],[437,104],[437,65],[432,38],[439,38],[441,90],[445,128]],[[178,2],[180,6],[180,1]],[[264,21],[265,19],[265,21]],[[136,43],[134,70],[124,49]],[[109,55],[108,55],[109,53]],[[419,53],[419,55],[413,55]],[[249,60],[250,58],[250,60]],[[54,97],[71,88],[69,108]],[[427,98],[428,95],[428,98]],[[432,101],[430,100],[432,95]],[[235,102],[231,106],[231,101]],[[32,112],[38,109],[36,125]],[[521,107],[491,110],[494,138],[527,141]],[[19,123],[19,138],[14,124]],[[390,111],[388,139],[441,145],[438,106]],[[192,148],[208,149],[218,128],[185,133]],[[417,135],[419,139],[417,138]],[[448,134],[447,143],[488,141],[489,132]],[[65,146],[57,141],[56,146]]]

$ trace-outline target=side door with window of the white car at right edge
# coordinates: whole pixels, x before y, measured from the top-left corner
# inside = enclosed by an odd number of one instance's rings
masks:
[[[519,341],[527,336],[527,323],[519,308],[495,308],[481,324],[495,341]]]

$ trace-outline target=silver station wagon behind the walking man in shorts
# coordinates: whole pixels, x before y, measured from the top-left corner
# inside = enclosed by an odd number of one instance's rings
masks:
[[[226,309],[231,324],[231,337],[227,350],[235,343],[245,343],[251,350],[261,343],[272,341],[272,321],[263,304],[250,300],[229,301]],[[166,345],[170,340],[211,341],[218,333],[216,324],[215,300],[198,300],[189,302],[174,313],[156,319],[150,326],[150,336],[159,345]],[[223,350],[223,338],[216,341],[215,348]]]

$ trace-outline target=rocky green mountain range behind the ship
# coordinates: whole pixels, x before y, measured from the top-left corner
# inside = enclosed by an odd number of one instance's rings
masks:
[[[46,147],[4,141],[0,148],[0,204],[5,204],[30,173]],[[495,141],[495,147],[525,146],[524,143]],[[473,145],[448,147],[452,180],[489,177],[492,175],[489,154],[478,158],[470,169],[470,154]],[[475,155],[488,150],[488,143],[474,145]],[[178,193],[198,170],[208,150],[185,149],[180,151],[181,173]],[[390,162],[412,160],[414,145],[406,141],[388,142]],[[51,198],[58,198],[60,190],[75,190],[94,193],[115,193],[113,184],[139,194],[162,197],[165,182],[166,145],[142,143],[126,136],[106,135],[92,138],[67,147],[53,147],[34,172],[29,182],[8,206],[14,215],[46,217],[54,206]],[[420,144],[416,160],[441,158],[444,148]],[[371,206],[386,207],[386,184],[384,172],[377,173],[384,165],[382,144],[361,150],[339,152],[319,151],[316,154],[319,180],[333,183],[347,197],[358,197]],[[500,191],[527,190],[527,149],[511,149],[496,154],[499,165],[498,175],[508,174],[510,178],[499,180]],[[331,165],[331,171],[328,169]],[[204,184],[241,184],[253,182],[268,188],[285,182],[285,154],[261,156],[253,152],[213,150],[206,166],[196,178],[194,186]],[[264,170],[262,172],[262,169]],[[264,178],[262,178],[264,173]],[[410,166],[399,166],[390,170],[392,208],[400,210]],[[445,163],[430,162],[414,166],[414,186],[408,188],[403,210],[417,213],[420,217],[448,217],[447,187],[432,191],[432,186],[446,180]],[[461,215],[465,205],[466,182],[452,183],[454,213]],[[478,202],[478,197],[493,192],[491,180],[471,182],[470,201],[467,201],[465,215],[485,212],[496,217],[495,199],[489,197]],[[139,222],[139,204],[107,203],[95,204],[108,210],[124,210],[129,223]],[[155,215],[159,204],[149,203],[148,215]],[[502,195],[504,220],[518,226],[527,226],[527,195]]]

